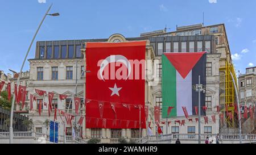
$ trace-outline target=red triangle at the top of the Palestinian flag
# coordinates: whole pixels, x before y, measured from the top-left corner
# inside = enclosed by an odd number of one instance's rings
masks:
[[[186,78],[188,73],[200,60],[205,52],[196,53],[164,53],[168,60],[174,65],[181,77]],[[185,63],[184,63],[185,62]]]

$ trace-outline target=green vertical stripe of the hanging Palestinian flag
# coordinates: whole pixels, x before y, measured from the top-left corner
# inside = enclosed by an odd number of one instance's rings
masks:
[[[162,86],[162,96],[163,96],[163,108],[162,108],[162,117],[167,117],[168,106],[176,107],[176,69],[168,60],[168,58],[163,55],[162,56],[162,83],[167,85],[168,87]],[[177,110],[176,108],[172,109],[171,114],[169,116],[176,116]]]

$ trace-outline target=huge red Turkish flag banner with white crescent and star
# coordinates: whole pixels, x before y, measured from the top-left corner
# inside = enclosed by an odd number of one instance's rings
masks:
[[[145,51],[146,41],[86,43],[86,70],[90,71],[86,73],[86,99],[91,100],[86,103],[86,119],[90,120],[86,128],[139,128],[140,109],[141,128],[146,128]],[[123,104],[129,104],[130,110]],[[128,126],[127,121],[131,122]]]

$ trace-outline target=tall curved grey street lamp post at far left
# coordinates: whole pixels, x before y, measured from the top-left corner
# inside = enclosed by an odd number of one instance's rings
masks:
[[[27,53],[26,53],[26,56],[24,57],[24,60],[23,60],[23,63],[22,63],[22,67],[20,68],[20,72],[18,74],[18,79],[17,79],[17,87],[19,87],[19,81],[20,81],[20,74],[22,74],[22,70],[23,70],[23,67],[24,67],[24,64],[27,60],[27,56],[28,56],[28,53],[30,52],[30,48],[32,47],[32,44],[35,40],[35,37],[36,35],[38,34],[38,31],[40,29],[40,27],[42,26],[43,22],[44,22],[44,19],[46,18],[47,15],[51,15],[51,16],[58,16],[60,15],[59,13],[55,13],[55,14],[48,14],[49,10],[51,10],[51,7],[52,7],[52,4],[51,6],[49,6],[49,9],[46,11],[46,14],[44,15],[41,23],[39,24],[39,27],[38,29],[36,30],[35,32],[35,35],[30,43],[30,46],[28,47],[28,50],[27,50]],[[14,102],[15,102],[15,94],[13,95],[13,100],[11,102],[11,116],[10,116],[10,144],[13,144],[13,112],[14,112]]]

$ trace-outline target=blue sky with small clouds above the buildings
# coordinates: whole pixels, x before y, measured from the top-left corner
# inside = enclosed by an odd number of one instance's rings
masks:
[[[43,3],[39,3],[43,2]],[[45,3],[44,3],[45,2]],[[84,1],[0,0],[0,70],[19,72],[28,45],[40,20],[53,3],[31,48],[41,40],[108,38],[113,33],[137,37],[142,32],[203,22],[225,23],[236,70],[256,65],[255,0]],[[29,69],[26,61],[23,71]]]

